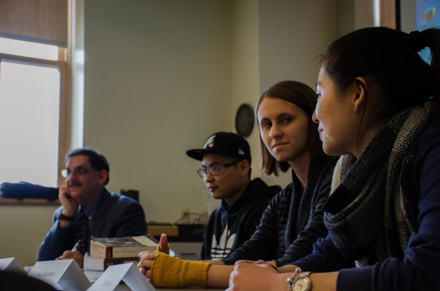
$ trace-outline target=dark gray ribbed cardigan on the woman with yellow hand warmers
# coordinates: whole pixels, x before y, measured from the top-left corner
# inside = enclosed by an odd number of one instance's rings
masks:
[[[326,156],[310,162],[304,193],[292,171],[292,183],[270,200],[251,238],[222,261],[233,265],[238,260],[274,260],[280,267],[311,253],[313,243],[327,236],[322,207],[337,159]]]

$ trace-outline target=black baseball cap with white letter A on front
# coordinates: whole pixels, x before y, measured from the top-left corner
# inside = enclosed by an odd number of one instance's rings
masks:
[[[208,137],[200,149],[190,149],[186,154],[193,159],[202,161],[207,153],[219,154],[231,158],[249,161],[251,164],[250,148],[247,141],[233,132],[217,132]]]

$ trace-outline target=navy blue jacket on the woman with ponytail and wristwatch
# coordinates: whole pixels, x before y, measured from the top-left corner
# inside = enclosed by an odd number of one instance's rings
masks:
[[[440,126],[431,125],[420,134],[402,163],[405,210],[416,226],[403,260],[389,257],[374,266],[354,268],[328,236],[313,246],[313,254],[293,264],[307,271],[340,270],[338,291],[439,290]]]

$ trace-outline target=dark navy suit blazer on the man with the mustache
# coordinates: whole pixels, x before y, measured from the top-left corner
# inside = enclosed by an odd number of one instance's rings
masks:
[[[75,220],[68,228],[58,227],[58,218],[63,207],[53,213],[53,226],[46,234],[38,250],[38,261],[54,260],[65,250],[75,245],[75,232],[80,219],[78,209]],[[124,195],[110,193],[105,188],[103,197],[95,215],[90,231],[96,237],[124,237],[147,234],[147,224],[142,206],[135,200]],[[87,251],[90,250],[90,239],[87,240]]]

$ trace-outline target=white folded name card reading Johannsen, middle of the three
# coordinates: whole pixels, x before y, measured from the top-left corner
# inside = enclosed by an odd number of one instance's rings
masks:
[[[91,285],[73,259],[37,262],[29,276],[68,291],[85,291]]]

